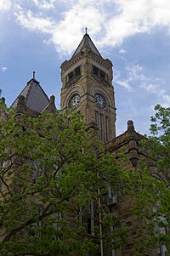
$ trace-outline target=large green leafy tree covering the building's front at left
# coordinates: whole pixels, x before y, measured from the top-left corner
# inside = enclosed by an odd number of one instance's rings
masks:
[[[2,113],[1,255],[103,255],[104,243],[121,246],[126,229],[110,238],[102,233],[116,216],[101,200],[108,183],[116,191],[122,168],[105,153],[94,130],[87,131],[74,111],[31,118],[1,102]],[[92,202],[93,236],[82,225]]]

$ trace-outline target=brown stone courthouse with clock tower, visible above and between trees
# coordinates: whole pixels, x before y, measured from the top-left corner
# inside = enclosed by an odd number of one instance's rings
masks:
[[[101,56],[86,33],[71,59],[61,64],[60,111],[73,108],[80,112],[87,127],[98,130],[99,139],[105,143],[106,151],[116,152],[124,147],[128,155],[126,167],[135,169],[138,168],[139,158],[144,155],[139,148],[139,140],[144,137],[135,131],[133,121],[128,121],[127,131],[116,137],[116,104],[112,84],[112,66],[111,60]],[[21,95],[25,98],[20,97]],[[23,105],[31,117],[37,117],[44,110],[53,112],[56,109],[54,96],[48,99],[40,83],[37,82],[35,73],[12,106],[20,111]],[[111,191],[108,191],[105,203],[111,212],[118,214],[121,225],[127,226],[129,232],[126,245],[121,250],[105,247],[104,255],[134,255],[133,244],[139,233],[137,223],[130,213],[129,202],[123,196],[112,195]],[[88,225],[94,225],[93,221],[89,220]],[[165,256],[166,252],[161,248],[147,255]]]

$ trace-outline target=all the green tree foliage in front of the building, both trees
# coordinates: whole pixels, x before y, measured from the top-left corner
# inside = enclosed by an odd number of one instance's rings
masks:
[[[156,106],[150,137],[141,143],[147,157],[137,171],[124,170],[105,153],[94,130],[87,131],[74,111],[31,118],[0,101],[2,256],[88,256],[99,253],[100,242],[122,247],[129,228],[103,202],[108,184],[133,206],[133,221],[139,224],[134,255],[159,244],[170,249],[164,232],[170,225],[170,108]],[[121,162],[127,162],[120,153]],[[93,237],[80,218],[88,218],[92,202]],[[111,226],[112,232],[105,232]]]

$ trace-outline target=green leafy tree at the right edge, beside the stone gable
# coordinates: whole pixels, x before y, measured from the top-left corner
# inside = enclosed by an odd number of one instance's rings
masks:
[[[159,247],[170,252],[170,108],[156,105],[151,117],[150,136],[141,142],[145,157],[139,171],[122,175],[124,191],[135,198],[133,213],[140,222],[135,255],[146,255]]]

